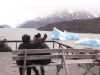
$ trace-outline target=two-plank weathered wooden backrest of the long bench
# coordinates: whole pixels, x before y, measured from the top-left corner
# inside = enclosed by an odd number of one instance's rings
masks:
[[[63,49],[64,53],[74,53],[74,54],[65,54],[66,59],[93,59],[99,58],[100,50],[88,50],[88,49]],[[24,49],[13,51],[13,54],[16,55],[13,57],[13,60],[24,60],[24,56],[18,56],[18,54],[33,54],[26,57],[26,60],[37,60],[37,59],[62,59],[62,49]],[[85,54],[79,54],[83,52]],[[34,55],[39,53],[51,53],[51,55]],[[59,54],[60,53],[60,54]],[[88,53],[88,54],[87,54]],[[90,54],[92,53],[92,54]]]

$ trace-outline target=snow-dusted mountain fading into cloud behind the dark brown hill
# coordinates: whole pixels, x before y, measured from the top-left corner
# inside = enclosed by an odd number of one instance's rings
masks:
[[[24,22],[19,25],[19,28],[39,28],[43,27],[47,24],[61,21],[71,21],[76,19],[90,19],[94,18],[92,14],[85,11],[77,11],[70,13],[69,11],[56,12],[52,15],[47,16],[46,18],[36,18],[34,20],[30,20]]]

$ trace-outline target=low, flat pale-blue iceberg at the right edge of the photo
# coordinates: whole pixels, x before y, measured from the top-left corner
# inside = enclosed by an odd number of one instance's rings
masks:
[[[100,46],[100,40],[84,38],[84,39],[76,41],[75,44],[90,45],[90,46]]]

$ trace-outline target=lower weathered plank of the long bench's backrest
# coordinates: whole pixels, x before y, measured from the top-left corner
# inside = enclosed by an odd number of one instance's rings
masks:
[[[95,54],[72,54],[72,55],[65,55],[66,59],[93,59],[95,58],[100,58],[100,55],[95,55]],[[39,60],[39,59],[62,59],[62,55],[30,55],[27,56],[27,60]],[[13,60],[23,60],[23,56],[14,56]]]

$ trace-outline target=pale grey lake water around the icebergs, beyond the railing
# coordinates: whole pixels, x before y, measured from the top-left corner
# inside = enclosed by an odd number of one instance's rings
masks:
[[[41,33],[42,36],[46,33],[48,35],[47,40],[50,40],[51,31],[40,31],[36,30],[35,28],[0,28],[0,37],[5,37],[7,40],[21,40],[22,35],[29,34],[31,36],[31,39],[36,33]],[[100,34],[91,34],[91,33],[75,33],[79,35],[81,38],[90,38],[90,39],[99,39],[100,40]],[[74,42],[77,40],[64,40],[64,41],[58,41],[64,44],[67,44],[74,48],[94,48],[94,49],[100,49],[100,47],[95,46],[86,46],[86,45],[75,45]],[[12,49],[15,49],[15,44],[10,43],[8,44]],[[51,45],[49,45],[51,47]]]

